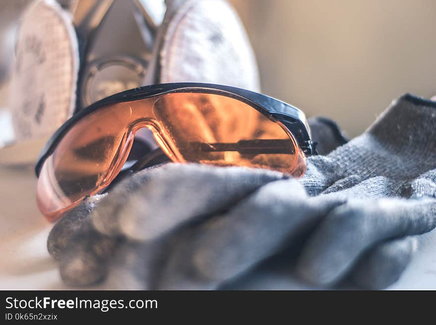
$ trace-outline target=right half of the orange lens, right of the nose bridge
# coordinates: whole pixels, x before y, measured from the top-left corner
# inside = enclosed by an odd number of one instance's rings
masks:
[[[299,152],[293,137],[238,99],[169,93],[155,103],[154,112],[185,161],[287,173],[295,169]]]

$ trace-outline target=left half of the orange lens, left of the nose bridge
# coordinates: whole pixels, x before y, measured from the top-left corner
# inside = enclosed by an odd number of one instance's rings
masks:
[[[49,219],[113,179],[111,171],[126,155],[130,117],[130,110],[109,106],[81,119],[61,139],[38,180],[37,204]]]

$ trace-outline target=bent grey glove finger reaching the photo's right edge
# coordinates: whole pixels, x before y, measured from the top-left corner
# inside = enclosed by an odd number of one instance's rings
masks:
[[[434,199],[349,201],[330,212],[311,235],[297,273],[312,283],[332,284],[375,244],[429,232],[435,226]]]

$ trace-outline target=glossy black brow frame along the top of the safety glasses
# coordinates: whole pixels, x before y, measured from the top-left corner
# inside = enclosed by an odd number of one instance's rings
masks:
[[[203,83],[171,83],[144,86],[117,93],[99,100],[73,115],[59,129],[57,129],[41,150],[35,166],[36,176],[39,177],[45,160],[53,153],[57,143],[68,132],[68,130],[84,116],[106,107],[109,104],[140,100],[164,93],[190,92],[219,94],[241,100],[269,117],[271,120],[281,122],[289,132],[292,133],[298,146],[306,155],[316,154],[316,142],[313,142],[310,139],[310,131],[306,122],[306,117],[302,111],[294,106],[261,93],[255,93],[236,87]]]

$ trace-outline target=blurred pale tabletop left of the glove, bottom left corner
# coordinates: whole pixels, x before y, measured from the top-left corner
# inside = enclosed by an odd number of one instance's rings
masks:
[[[52,225],[37,210],[35,186],[31,168],[0,167],[0,289],[63,288],[47,252]]]

